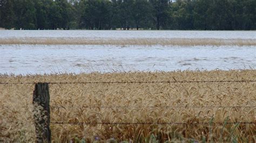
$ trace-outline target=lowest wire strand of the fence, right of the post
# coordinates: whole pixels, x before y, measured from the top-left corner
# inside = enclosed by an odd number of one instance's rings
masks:
[[[256,122],[230,122],[230,123],[108,123],[108,122],[100,122],[100,123],[95,123],[95,122],[51,122],[50,124],[70,124],[70,125],[75,125],[75,124],[102,124],[102,125],[223,125],[223,124],[256,124]]]

